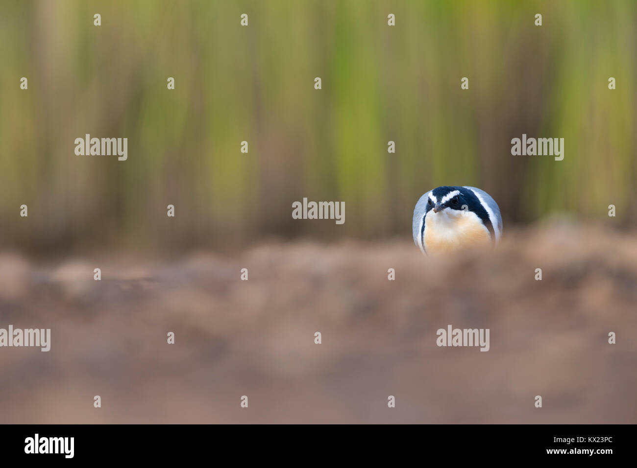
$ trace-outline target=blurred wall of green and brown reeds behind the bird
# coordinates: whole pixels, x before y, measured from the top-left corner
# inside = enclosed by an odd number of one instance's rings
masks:
[[[410,238],[438,185],[484,188],[506,225],[632,225],[636,59],[632,0],[4,0],[0,246]],[[128,160],[76,156],[87,133]],[[512,156],[522,133],[564,160]],[[345,201],[345,224],[292,220],[303,197]]]

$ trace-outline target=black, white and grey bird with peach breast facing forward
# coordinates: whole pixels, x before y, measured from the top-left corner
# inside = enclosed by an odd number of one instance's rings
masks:
[[[413,209],[413,242],[424,254],[458,252],[499,243],[502,215],[491,195],[476,187],[429,190]]]

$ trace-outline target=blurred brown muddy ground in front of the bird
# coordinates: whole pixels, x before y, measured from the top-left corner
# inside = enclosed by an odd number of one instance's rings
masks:
[[[637,235],[506,234],[446,259],[409,241],[0,254],[0,327],[52,330],[48,353],[0,348],[0,423],[636,423]],[[490,350],[436,346],[447,325],[490,329]]]

